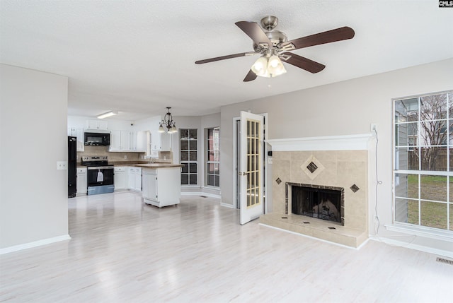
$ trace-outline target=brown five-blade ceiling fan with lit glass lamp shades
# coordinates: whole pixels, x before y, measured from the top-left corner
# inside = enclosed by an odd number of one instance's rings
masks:
[[[253,81],[257,76],[275,77],[286,73],[282,60],[288,64],[297,66],[300,69],[309,71],[310,73],[319,73],[326,67],[325,65],[293,54],[289,51],[319,44],[348,40],[352,39],[355,35],[352,28],[345,26],[343,28],[319,32],[314,35],[288,41],[285,32],[274,30],[278,23],[277,17],[264,17],[261,19],[260,23],[262,28],[256,22],[239,21],[235,23],[253,40],[253,52],[242,52],[239,54],[229,54],[222,57],[198,60],[195,61],[195,64],[205,64],[224,59],[260,54],[260,58],[253,64],[251,70],[248,71],[246,78],[243,79],[244,82]]]

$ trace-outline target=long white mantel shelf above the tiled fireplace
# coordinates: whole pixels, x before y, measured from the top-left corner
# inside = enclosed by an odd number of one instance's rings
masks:
[[[283,138],[266,141],[273,151],[299,150],[368,150],[374,133],[347,136],[321,136],[306,138]]]

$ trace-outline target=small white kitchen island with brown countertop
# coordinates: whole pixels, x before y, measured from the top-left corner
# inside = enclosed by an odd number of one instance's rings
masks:
[[[183,165],[170,163],[137,164],[142,167],[144,203],[159,208],[179,204],[180,172]]]

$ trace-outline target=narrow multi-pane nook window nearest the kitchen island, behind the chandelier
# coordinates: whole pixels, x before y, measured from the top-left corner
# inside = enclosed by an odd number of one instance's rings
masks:
[[[179,129],[179,140],[181,185],[197,185],[197,129]]]

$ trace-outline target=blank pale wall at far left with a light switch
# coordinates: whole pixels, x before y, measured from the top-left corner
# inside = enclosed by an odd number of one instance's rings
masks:
[[[0,64],[0,249],[68,236],[68,78]]]

